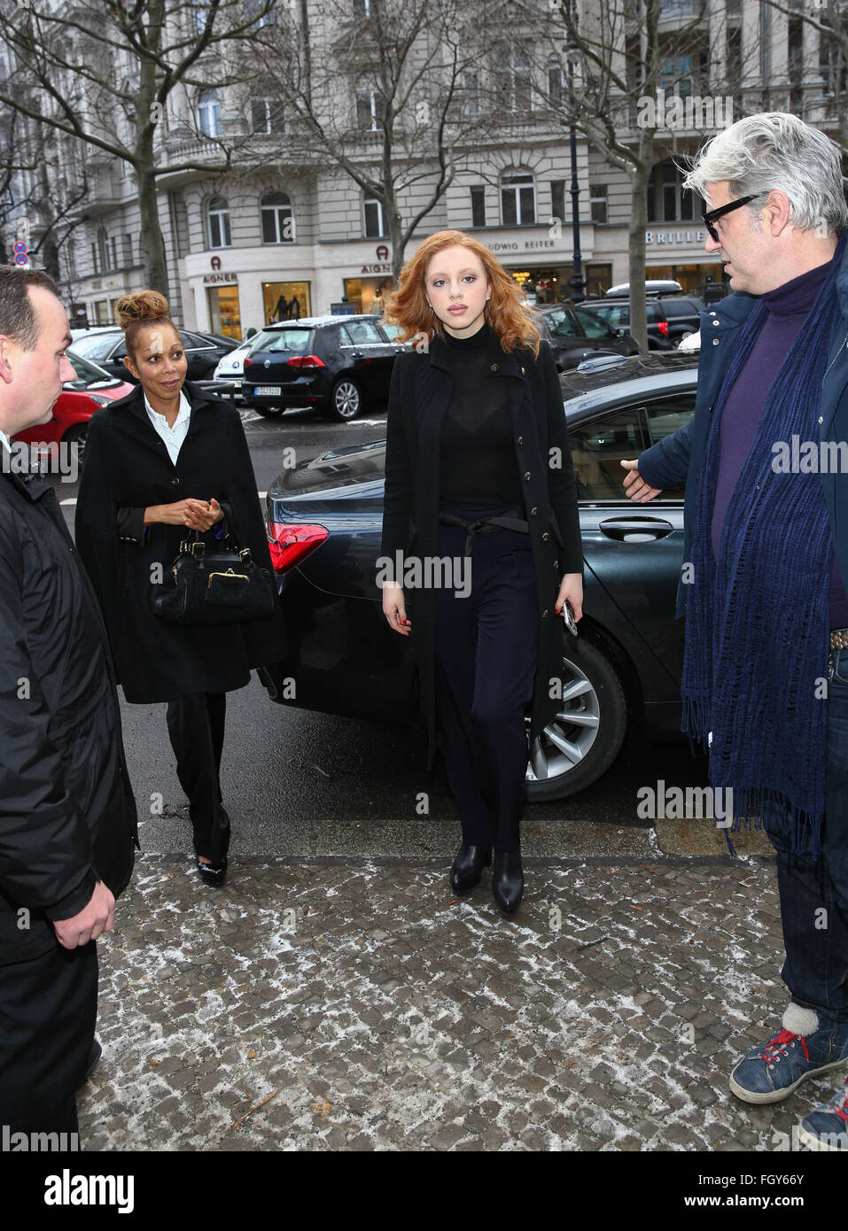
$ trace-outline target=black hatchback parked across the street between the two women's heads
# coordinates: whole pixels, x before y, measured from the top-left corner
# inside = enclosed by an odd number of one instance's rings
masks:
[[[244,361],[244,400],[266,417],[314,406],[345,422],[367,401],[385,406],[394,359],[404,348],[394,340],[398,332],[365,315],[266,325]]]

